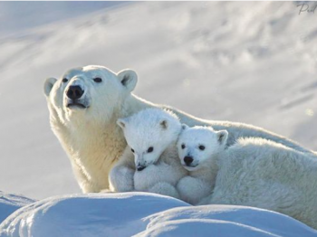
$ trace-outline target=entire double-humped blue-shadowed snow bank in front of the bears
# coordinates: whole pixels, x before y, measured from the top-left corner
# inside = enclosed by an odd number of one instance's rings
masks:
[[[159,194],[76,194],[25,206],[0,225],[1,237],[317,236],[280,213],[228,205],[191,206]]]

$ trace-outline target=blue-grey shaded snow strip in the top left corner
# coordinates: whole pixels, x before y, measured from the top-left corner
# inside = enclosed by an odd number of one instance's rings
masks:
[[[95,12],[102,8],[126,4],[126,2],[1,2],[0,35],[12,35],[14,33],[25,33],[28,30],[55,22],[69,20],[82,14]]]

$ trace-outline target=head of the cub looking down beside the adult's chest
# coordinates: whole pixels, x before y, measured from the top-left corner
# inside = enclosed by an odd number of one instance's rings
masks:
[[[118,119],[124,137],[134,154],[138,171],[156,164],[159,156],[178,140],[178,117],[163,109],[143,109],[125,119]]]

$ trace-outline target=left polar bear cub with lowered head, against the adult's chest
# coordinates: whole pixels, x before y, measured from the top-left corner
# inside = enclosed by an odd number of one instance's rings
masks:
[[[151,108],[119,119],[118,125],[128,143],[120,160],[131,160],[133,154],[134,166],[131,163],[121,166],[118,162],[110,171],[110,190],[136,190],[179,198],[175,186],[187,171],[178,159],[176,143],[181,131],[178,117],[168,110]]]

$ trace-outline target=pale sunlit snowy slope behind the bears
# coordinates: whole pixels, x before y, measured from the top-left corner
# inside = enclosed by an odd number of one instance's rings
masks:
[[[87,64],[138,71],[136,94],[146,100],[316,150],[317,13],[299,15],[296,5],[133,3],[14,34],[1,28],[0,190],[39,199],[80,192],[49,127],[43,81]]]

